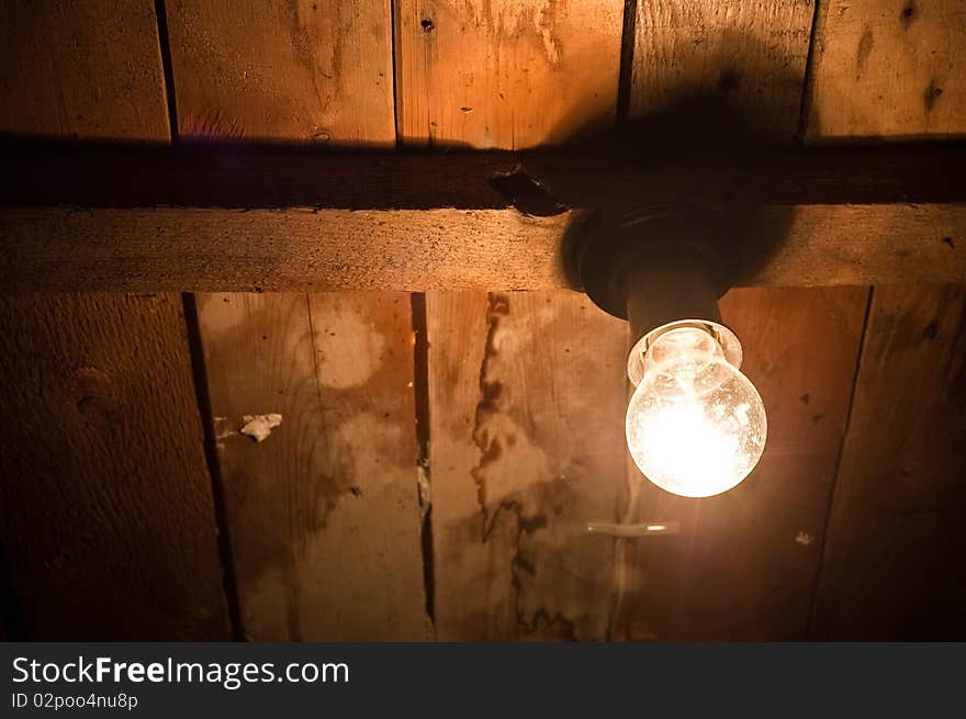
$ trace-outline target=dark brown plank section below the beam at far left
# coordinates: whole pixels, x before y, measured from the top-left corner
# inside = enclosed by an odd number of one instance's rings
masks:
[[[2,295],[0,530],[35,640],[228,637],[178,295]]]

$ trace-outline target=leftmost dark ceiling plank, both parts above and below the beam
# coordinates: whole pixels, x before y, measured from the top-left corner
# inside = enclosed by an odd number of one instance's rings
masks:
[[[167,142],[150,2],[7,10],[2,131]],[[0,531],[27,637],[227,639],[181,297],[0,303]]]

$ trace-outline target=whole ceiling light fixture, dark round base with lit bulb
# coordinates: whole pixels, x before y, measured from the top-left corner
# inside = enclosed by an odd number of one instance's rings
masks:
[[[686,497],[738,485],[767,434],[761,395],[739,371],[741,342],[718,311],[734,274],[726,227],[703,207],[650,206],[598,224],[577,247],[584,291],[630,322],[630,454],[651,482]]]

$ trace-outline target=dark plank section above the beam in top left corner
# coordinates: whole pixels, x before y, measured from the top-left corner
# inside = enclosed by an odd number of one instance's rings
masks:
[[[15,0],[3,24],[0,132],[168,142],[154,3]]]

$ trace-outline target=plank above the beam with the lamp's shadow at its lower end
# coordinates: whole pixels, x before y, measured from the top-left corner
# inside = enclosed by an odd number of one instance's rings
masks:
[[[684,121],[689,143],[733,143],[731,121],[764,138],[787,141],[798,125],[812,3],[797,0],[656,0],[637,3],[631,113],[714,106]],[[733,116],[730,112],[735,113]],[[727,127],[727,130],[726,130]],[[666,127],[674,132],[674,127]]]

